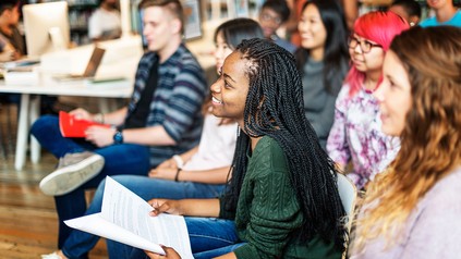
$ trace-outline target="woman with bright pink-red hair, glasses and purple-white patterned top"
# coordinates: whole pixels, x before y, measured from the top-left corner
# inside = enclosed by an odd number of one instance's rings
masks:
[[[392,12],[369,12],[359,17],[349,38],[352,67],[338,95],[327,151],[359,189],[365,187],[396,156],[399,140],[381,133],[378,103],[373,97],[381,79],[383,61],[392,38],[409,24]]]

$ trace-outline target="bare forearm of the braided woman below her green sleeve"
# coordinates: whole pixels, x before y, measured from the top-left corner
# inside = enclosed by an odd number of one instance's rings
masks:
[[[183,215],[219,217],[219,199],[182,199],[179,202]]]

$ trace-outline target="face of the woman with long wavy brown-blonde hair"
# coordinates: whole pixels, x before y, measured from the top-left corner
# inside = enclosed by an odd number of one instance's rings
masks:
[[[383,83],[374,92],[379,101],[381,130],[387,135],[400,136],[412,103],[411,85],[407,70],[392,51],[386,53],[383,76]]]

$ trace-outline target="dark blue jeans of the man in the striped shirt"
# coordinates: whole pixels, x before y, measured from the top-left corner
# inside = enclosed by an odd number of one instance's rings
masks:
[[[106,161],[101,172],[90,181],[66,195],[54,197],[59,218],[59,248],[63,246],[72,231],[63,221],[81,217],[86,211],[85,189],[96,188],[106,175],[146,175],[150,169],[150,153],[147,146],[122,144],[97,148],[82,138],[62,137],[59,130],[59,119],[53,115],[39,118],[32,126],[31,133],[45,149],[57,158],[66,153],[90,150],[102,156]]]

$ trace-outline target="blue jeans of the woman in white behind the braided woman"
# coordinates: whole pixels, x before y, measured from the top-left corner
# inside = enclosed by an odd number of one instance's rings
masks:
[[[117,175],[113,180],[125,186],[141,198],[184,199],[184,198],[215,198],[223,190],[225,185],[199,184],[192,182],[173,182],[168,180],[149,178],[136,175]],[[106,181],[99,184],[95,197],[85,214],[100,212]],[[81,231],[72,231],[65,240],[62,251],[69,258],[84,258],[96,245],[99,236]],[[111,257],[112,258],[112,257]],[[113,258],[123,258],[120,256]]]

